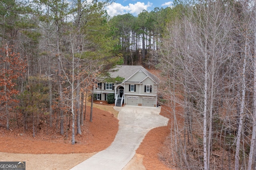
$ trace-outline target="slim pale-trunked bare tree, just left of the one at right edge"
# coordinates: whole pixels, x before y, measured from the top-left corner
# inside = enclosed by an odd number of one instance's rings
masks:
[[[240,73],[240,84],[241,87],[241,92],[240,92],[240,98],[237,99],[239,106],[238,109],[238,115],[237,115],[237,137],[236,137],[236,153],[235,153],[235,169],[239,170],[239,162],[240,162],[240,151],[241,147],[240,145],[242,144],[242,151],[243,151],[243,160],[246,159],[245,153],[244,153],[244,121],[245,118],[247,117],[246,110],[248,110],[248,104],[246,104],[246,98],[248,98],[248,92],[250,93],[250,90],[248,90],[249,82],[247,80],[247,76],[250,75],[250,37],[251,35],[251,29],[250,25],[252,23],[252,18],[251,18],[251,10],[250,10],[250,5],[246,1],[238,1],[237,2],[237,9],[240,10],[240,13],[238,13],[238,17],[236,18],[237,22],[237,27],[238,29],[238,37],[242,40],[242,43],[238,44],[238,47],[240,47],[240,57],[242,59],[242,64],[239,69]],[[238,79],[239,80],[239,79]],[[250,80],[249,80],[250,81]],[[242,139],[242,143],[241,143]],[[244,168],[246,169],[246,164],[244,163]]]

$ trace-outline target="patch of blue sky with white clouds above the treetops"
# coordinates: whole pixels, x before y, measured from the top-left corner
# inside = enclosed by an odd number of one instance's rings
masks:
[[[110,6],[107,6],[106,10],[110,16],[127,13],[137,16],[143,10],[150,12],[156,7],[166,8],[172,5],[173,2],[170,0],[116,0]]]

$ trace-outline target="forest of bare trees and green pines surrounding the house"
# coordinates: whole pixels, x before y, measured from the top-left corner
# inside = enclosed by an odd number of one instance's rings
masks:
[[[229,169],[256,170],[255,0],[176,0],[110,17],[111,2],[0,0],[0,127],[32,125],[35,136],[46,117],[64,135],[69,119],[74,144],[95,78],[142,65],[160,72],[180,169],[215,169],[221,157]]]

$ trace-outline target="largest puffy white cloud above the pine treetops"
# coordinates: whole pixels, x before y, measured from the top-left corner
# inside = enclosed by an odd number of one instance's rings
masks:
[[[152,3],[148,2],[148,4],[144,4],[144,2],[136,2],[136,4],[129,4],[128,6],[122,6],[122,4],[112,3],[106,7],[108,15],[116,16],[122,15],[126,13],[131,13],[134,15],[140,14],[143,10],[148,10],[149,7],[152,6]]]

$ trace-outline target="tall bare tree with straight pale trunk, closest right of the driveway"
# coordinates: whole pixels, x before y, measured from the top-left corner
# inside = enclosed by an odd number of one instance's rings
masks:
[[[220,1],[206,1],[206,4],[207,6],[204,6],[204,3],[198,4],[195,8],[196,11],[194,11],[194,18],[190,20],[190,33],[195,43],[193,49],[196,50],[194,54],[198,57],[188,57],[196,59],[198,68],[200,68],[198,69],[199,75],[200,73],[204,74],[201,75],[204,79],[198,85],[201,89],[201,97],[203,97],[201,108],[203,108],[204,169],[208,170],[210,169],[212,146],[213,107],[214,100],[216,100],[214,96],[216,96],[218,83],[221,82],[219,77],[220,68],[232,51],[226,50],[226,48],[230,49],[231,47],[229,43],[231,40],[229,37],[231,29],[229,9]]]

